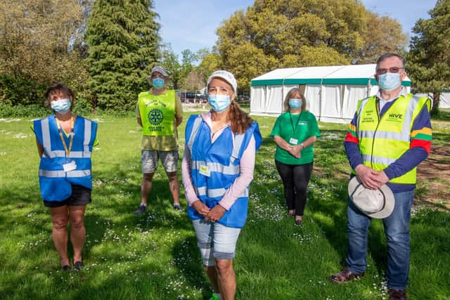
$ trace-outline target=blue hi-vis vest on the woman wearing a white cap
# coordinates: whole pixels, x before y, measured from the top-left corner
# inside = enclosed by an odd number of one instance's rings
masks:
[[[240,175],[240,159],[252,136],[258,150],[262,137],[256,122],[253,122],[244,134],[235,134],[227,127],[219,138],[211,143],[210,127],[203,122],[202,117],[191,115],[188,119],[185,137],[186,145],[191,150],[193,188],[198,199],[207,207],[214,207]],[[207,167],[210,176],[200,174],[201,167]],[[250,186],[244,190],[217,223],[234,228],[242,228],[245,225],[249,188]],[[192,220],[204,218],[191,206],[188,206],[188,216]]]

